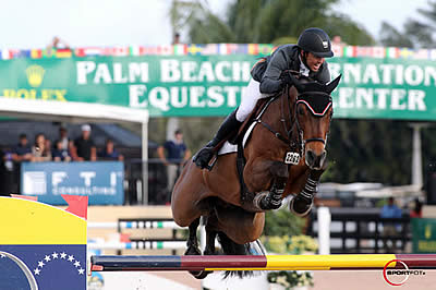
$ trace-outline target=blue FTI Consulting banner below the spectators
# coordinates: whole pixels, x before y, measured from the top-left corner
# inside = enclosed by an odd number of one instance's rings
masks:
[[[63,205],[61,194],[86,195],[92,205],[121,205],[124,169],[120,161],[23,162],[22,194],[38,201]]]

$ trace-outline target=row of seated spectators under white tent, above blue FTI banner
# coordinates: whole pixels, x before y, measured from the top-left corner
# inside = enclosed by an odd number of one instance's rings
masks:
[[[44,133],[38,133],[31,144],[25,133],[20,134],[19,144],[3,155],[8,161],[96,161],[123,160],[124,157],[117,152],[113,141],[106,140],[105,148],[97,152],[97,147],[90,136],[90,125],[82,125],[82,134],[75,140],[69,137],[66,128],[59,129],[59,137],[52,143]]]

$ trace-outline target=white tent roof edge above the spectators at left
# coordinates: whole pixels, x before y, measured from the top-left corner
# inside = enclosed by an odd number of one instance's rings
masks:
[[[0,114],[35,120],[147,123],[148,111],[119,106],[0,97]]]

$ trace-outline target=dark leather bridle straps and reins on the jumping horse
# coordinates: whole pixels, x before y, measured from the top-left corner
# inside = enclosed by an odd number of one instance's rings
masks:
[[[261,123],[264,125],[269,132],[271,132],[278,140],[283,142],[287,146],[290,147],[292,152],[299,152],[300,157],[303,156],[305,145],[311,142],[322,142],[324,145],[327,143],[327,137],[313,137],[313,138],[304,138],[304,132],[301,129],[299,118],[296,116],[296,108],[299,104],[304,104],[311,111],[311,113],[315,117],[324,117],[326,112],[329,110],[329,108],[332,106],[331,101],[331,96],[327,93],[324,92],[304,92],[304,93],[298,93],[295,102],[293,104],[293,110],[291,110],[291,104],[289,104],[289,89],[290,86],[287,85],[283,90],[281,90],[279,94],[275,95],[272,98],[269,99],[267,105],[264,107],[263,111],[259,113],[259,116],[256,118],[256,122]],[[327,105],[325,106],[324,110],[322,112],[318,112],[316,109],[313,108],[313,106],[310,104],[310,100],[307,96],[316,96],[316,97],[324,97],[327,100]],[[281,108],[280,108],[280,122],[283,125],[283,130],[286,132],[286,135],[283,136],[280,134],[280,132],[274,130],[269,124],[265,123],[264,121],[261,120],[261,117],[263,112],[268,108],[269,104],[275,101],[277,98],[281,99]],[[286,108],[288,108],[288,116],[289,118],[286,118]],[[292,113],[293,111],[293,113]],[[287,124],[287,120],[289,120],[289,126]],[[288,128],[290,128],[288,130]],[[295,131],[296,129],[296,131]],[[296,134],[295,134],[296,133]]]

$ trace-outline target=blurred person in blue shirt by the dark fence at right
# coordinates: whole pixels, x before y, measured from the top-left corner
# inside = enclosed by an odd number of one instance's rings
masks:
[[[395,204],[393,197],[388,198],[388,203],[382,208],[380,217],[382,218],[401,218],[402,213],[401,209]],[[389,238],[399,235],[399,225],[396,225],[392,221],[387,221],[383,223],[383,233],[384,237],[383,243],[387,253],[393,252],[396,250],[396,240],[391,240],[389,245]]]

